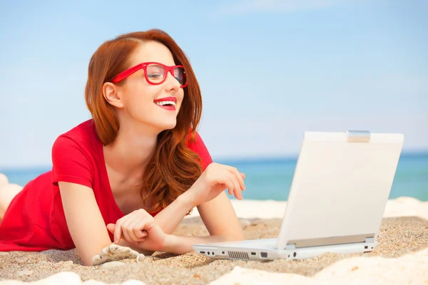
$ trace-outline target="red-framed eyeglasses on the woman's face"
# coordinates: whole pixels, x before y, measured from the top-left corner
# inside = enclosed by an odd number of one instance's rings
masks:
[[[146,81],[152,85],[159,85],[164,83],[168,72],[171,73],[175,79],[177,79],[181,88],[185,88],[188,84],[187,78],[185,76],[184,66],[165,66],[164,64],[157,62],[140,63],[136,66],[133,66],[126,71],[119,73],[113,78],[111,82],[119,83],[140,69],[144,70]]]

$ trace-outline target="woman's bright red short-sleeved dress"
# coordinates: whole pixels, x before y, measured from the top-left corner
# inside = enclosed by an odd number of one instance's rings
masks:
[[[195,143],[188,147],[200,155],[205,170],[212,160],[198,134]],[[0,223],[0,252],[75,247],[68,232],[58,181],[91,187],[106,225],[124,216],[113,198],[103,145],[92,120],[58,137],[52,147],[52,165],[51,171],[31,180],[6,210]],[[113,234],[108,234],[113,242]]]

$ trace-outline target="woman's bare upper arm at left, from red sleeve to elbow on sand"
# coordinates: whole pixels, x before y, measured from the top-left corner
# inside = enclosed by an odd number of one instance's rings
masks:
[[[111,244],[103,217],[90,187],[58,182],[68,230],[83,264],[89,266]]]

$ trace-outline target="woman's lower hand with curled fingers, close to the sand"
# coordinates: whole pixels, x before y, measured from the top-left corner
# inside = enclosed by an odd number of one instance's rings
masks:
[[[144,209],[127,214],[118,219],[116,224],[107,224],[107,229],[114,234],[116,244],[125,239],[138,248],[151,251],[163,249],[168,237]]]

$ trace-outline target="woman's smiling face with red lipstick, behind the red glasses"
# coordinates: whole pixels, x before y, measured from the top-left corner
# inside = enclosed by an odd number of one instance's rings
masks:
[[[131,57],[131,66],[146,62],[175,66],[170,50],[157,41],[142,43]],[[116,101],[110,100],[110,103],[118,107],[121,124],[143,124],[157,133],[175,128],[184,90],[180,88],[180,82],[170,72],[166,72],[165,81],[159,85],[148,83],[144,69],[140,69],[128,76],[121,85],[114,86],[115,93],[112,96],[116,95]],[[156,81],[163,78],[163,73],[161,68],[157,70],[153,66],[148,76]],[[110,89],[106,90],[108,93]]]

